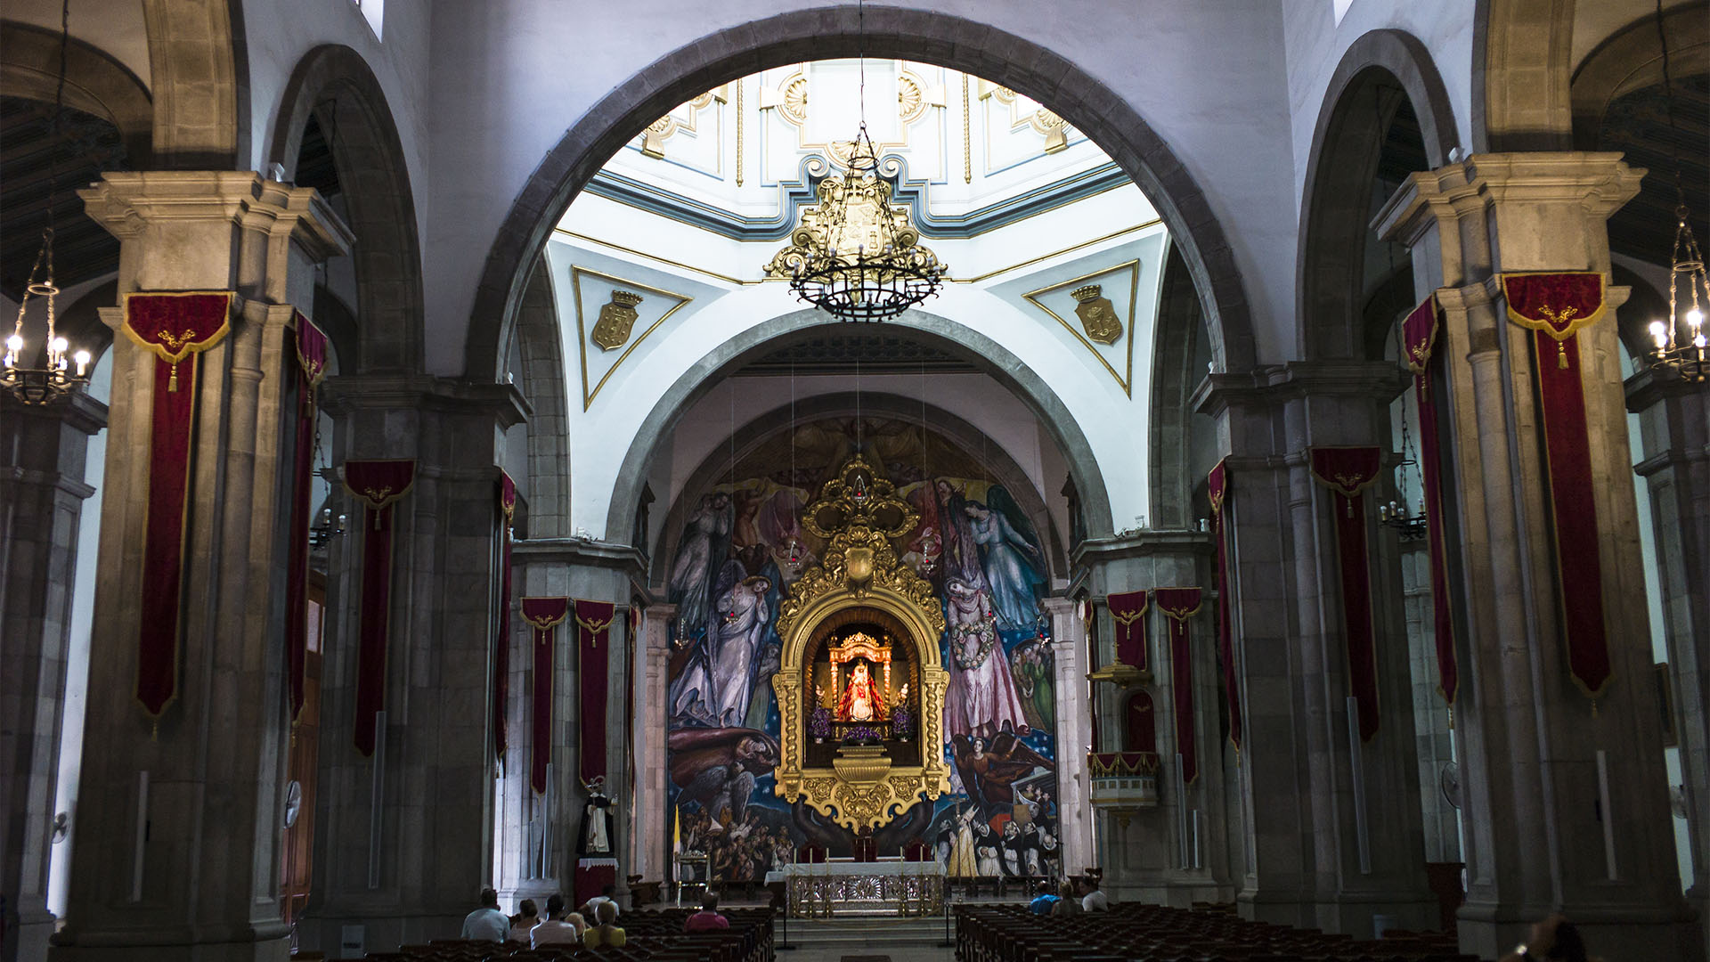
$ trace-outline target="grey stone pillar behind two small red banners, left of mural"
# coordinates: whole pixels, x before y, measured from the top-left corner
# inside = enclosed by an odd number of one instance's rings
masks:
[[[638,825],[633,822],[636,798],[643,789],[631,789],[631,775],[636,784],[650,777],[663,779],[663,746],[660,746],[660,770],[646,772],[631,767],[631,726],[628,724],[629,695],[626,688],[628,666],[631,657],[628,611],[629,601],[641,584],[646,565],[641,553],[626,544],[610,544],[581,537],[539,537],[516,543],[513,551],[516,563],[515,591],[523,596],[566,596],[583,601],[609,601],[616,606],[610,626],[610,676],[605,680],[609,695],[605,702],[605,794],[612,799],[612,856],[617,859],[616,883],[619,895],[629,890],[628,875],[633,875],[631,846]],[[575,604],[575,601],[571,603]],[[665,618],[653,625],[653,630],[669,630]],[[554,678],[552,709],[552,798],[554,805],[545,811],[552,839],[554,888],[566,899],[573,897],[576,870],[576,842],[581,832],[587,793],[580,781],[580,745],[581,745],[581,700],[578,685],[581,668],[576,664],[576,623],[568,618],[559,628],[559,652],[556,657],[557,676]],[[638,683],[645,681],[645,673],[638,671]],[[525,688],[527,692],[527,688]],[[527,698],[525,698],[527,700]],[[660,695],[663,700],[663,695]],[[641,724],[643,712],[636,712],[636,724]],[[663,722],[657,729],[663,738]],[[523,750],[523,758],[530,750],[527,726],[520,738],[511,739]],[[527,763],[522,765],[527,772]],[[527,784],[527,775],[523,777]],[[663,784],[663,782],[660,782]],[[658,796],[662,798],[662,796]],[[663,806],[660,806],[663,808]],[[663,815],[657,815],[662,818]],[[619,899],[622,902],[622,899]]]

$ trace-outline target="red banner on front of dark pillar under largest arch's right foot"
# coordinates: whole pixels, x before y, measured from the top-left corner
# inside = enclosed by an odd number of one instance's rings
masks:
[[[1366,553],[1366,495],[1377,483],[1382,452],[1375,447],[1315,447],[1312,476],[1329,486],[1336,515],[1337,563],[1342,570],[1342,635],[1347,690],[1359,705],[1359,738],[1378,733],[1378,664],[1371,628],[1371,567]]]

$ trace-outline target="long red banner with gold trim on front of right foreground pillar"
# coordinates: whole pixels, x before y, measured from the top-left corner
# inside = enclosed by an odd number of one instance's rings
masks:
[[[1508,320],[1532,330],[1568,671],[1580,690],[1597,698],[1609,685],[1611,664],[1585,385],[1575,332],[1604,315],[1604,277],[1599,272],[1503,274],[1501,282]]]

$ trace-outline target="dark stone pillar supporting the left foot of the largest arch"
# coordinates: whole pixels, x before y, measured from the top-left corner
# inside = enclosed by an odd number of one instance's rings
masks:
[[[356,750],[363,510],[335,490],[351,532],[328,551],[315,892],[304,948],[335,952],[344,926],[364,948],[455,938],[494,882],[492,630],[504,430],[527,414],[508,383],[422,375],[328,378],[333,464],[414,459],[393,505],[385,729]],[[516,594],[523,594],[516,589]]]

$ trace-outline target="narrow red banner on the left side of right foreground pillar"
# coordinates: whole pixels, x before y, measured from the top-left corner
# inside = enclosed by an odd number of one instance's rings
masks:
[[[1436,692],[1455,704],[1460,666],[1455,662],[1455,623],[1448,609],[1447,515],[1443,514],[1443,455],[1438,442],[1436,402],[1431,394],[1431,361],[1436,356],[1436,294],[1412,308],[1400,322],[1402,351],[1412,371],[1412,395],[1419,407],[1419,474],[1424,478],[1424,520],[1431,558],[1431,628],[1436,640]]]

